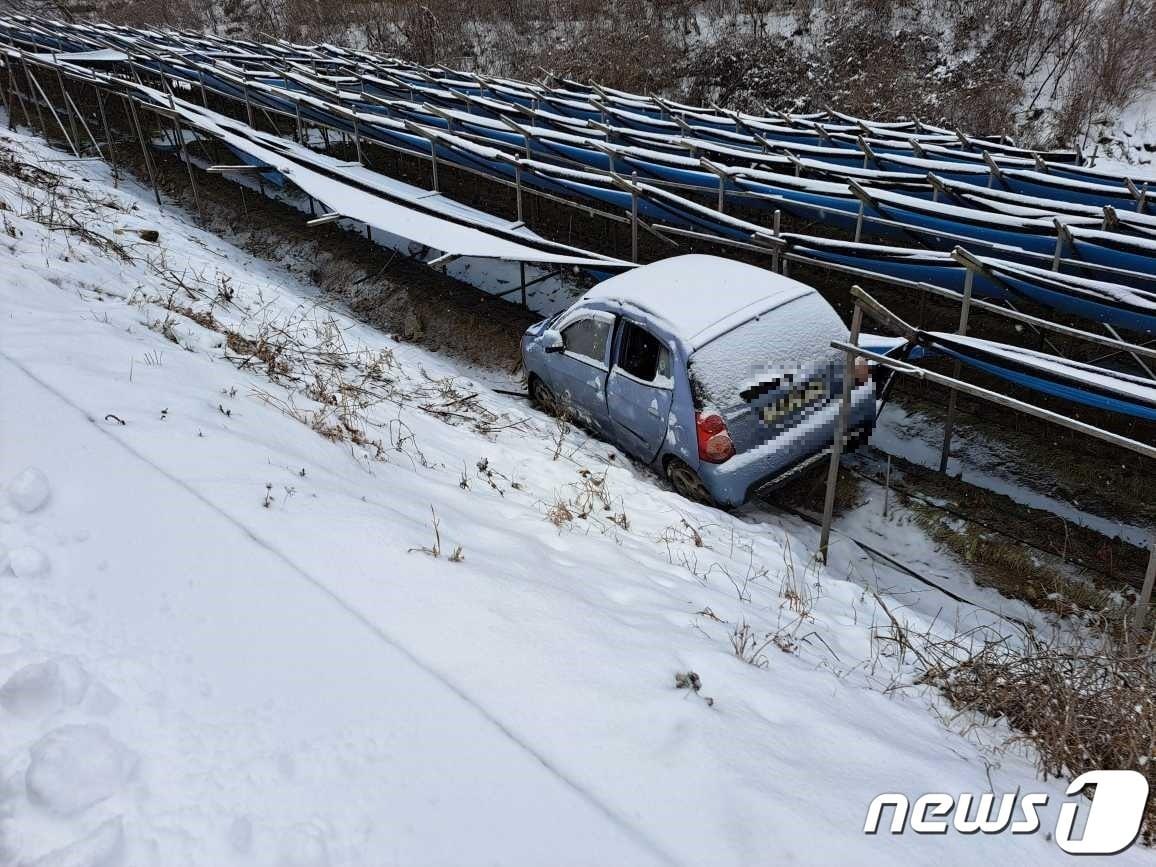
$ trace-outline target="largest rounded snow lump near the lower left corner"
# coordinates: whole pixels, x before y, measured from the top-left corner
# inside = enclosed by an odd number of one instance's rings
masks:
[[[116,794],[136,768],[135,754],[101,726],[68,725],[32,744],[29,799],[72,815]]]

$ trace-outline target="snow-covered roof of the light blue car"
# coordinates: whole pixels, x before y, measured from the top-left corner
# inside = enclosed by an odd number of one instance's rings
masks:
[[[697,349],[761,313],[815,290],[798,280],[717,255],[675,255],[618,274],[584,301],[618,302],[662,319]]]

